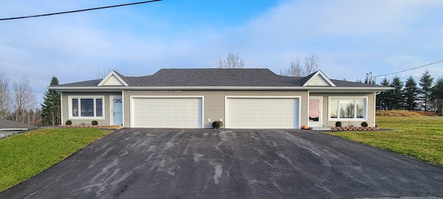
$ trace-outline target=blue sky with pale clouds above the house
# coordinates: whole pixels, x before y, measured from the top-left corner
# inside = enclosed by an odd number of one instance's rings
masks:
[[[132,2],[0,0],[0,18]],[[65,84],[96,79],[102,68],[127,76],[215,68],[228,53],[275,73],[314,54],[329,78],[355,81],[442,60],[442,8],[439,0],[165,0],[0,21],[0,71],[11,82],[26,75],[39,102],[53,76]],[[397,75],[418,82],[425,70],[441,77],[443,64]]]

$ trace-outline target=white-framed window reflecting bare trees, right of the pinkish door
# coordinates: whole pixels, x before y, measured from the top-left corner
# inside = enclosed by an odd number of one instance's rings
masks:
[[[329,97],[329,119],[365,120],[366,97]]]

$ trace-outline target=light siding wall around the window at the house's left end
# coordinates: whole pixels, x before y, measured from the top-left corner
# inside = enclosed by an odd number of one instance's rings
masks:
[[[62,124],[65,124],[66,120],[71,120],[73,125],[79,125],[82,122],[87,125],[91,125],[92,120],[91,119],[76,119],[76,118],[69,118],[69,106],[68,106],[68,100],[69,96],[104,96],[105,99],[103,99],[103,103],[105,103],[105,109],[103,110],[103,114],[105,115],[104,119],[97,120],[98,125],[101,126],[109,126],[110,124],[110,111],[109,111],[109,96],[110,95],[121,95],[121,93],[73,93],[73,92],[63,92],[62,93]],[[96,120],[96,119],[94,119]]]

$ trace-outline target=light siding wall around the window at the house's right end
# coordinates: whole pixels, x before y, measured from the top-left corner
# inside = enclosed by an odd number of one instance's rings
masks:
[[[369,126],[375,126],[375,117],[374,117],[374,93],[311,93],[310,96],[321,96],[323,97],[323,106],[322,106],[322,126],[332,127],[335,126],[336,121],[329,121],[329,96],[343,96],[343,97],[368,97],[368,102],[366,102],[366,122],[368,122]],[[346,119],[340,120],[343,126],[348,126],[349,121]],[[353,121],[350,124],[354,126],[361,126],[361,121]]]

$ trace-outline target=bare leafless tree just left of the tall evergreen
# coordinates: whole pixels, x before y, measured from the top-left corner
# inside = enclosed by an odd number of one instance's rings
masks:
[[[20,82],[14,82],[12,87],[14,92],[15,121],[24,123],[27,111],[34,108],[35,104],[37,104],[37,94],[34,93],[33,88],[29,85],[29,80],[26,76]]]

